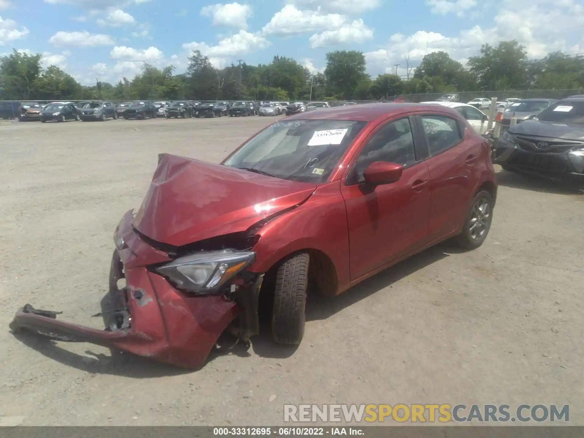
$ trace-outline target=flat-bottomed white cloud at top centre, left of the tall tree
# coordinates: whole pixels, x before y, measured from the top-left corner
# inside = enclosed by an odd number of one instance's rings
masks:
[[[345,17],[336,13],[300,11],[294,5],[286,5],[276,12],[262,32],[267,35],[293,35],[305,32],[335,30],[345,23]]]

